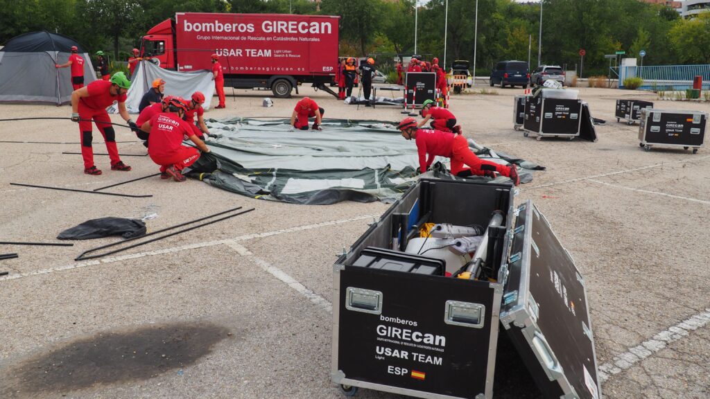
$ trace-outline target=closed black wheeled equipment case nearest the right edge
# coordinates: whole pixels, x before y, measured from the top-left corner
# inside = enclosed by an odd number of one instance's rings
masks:
[[[641,109],[638,145],[646,151],[658,144],[697,153],[704,146],[707,117],[702,111]]]

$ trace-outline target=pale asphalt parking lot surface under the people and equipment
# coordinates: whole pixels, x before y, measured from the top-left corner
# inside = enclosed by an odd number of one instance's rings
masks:
[[[478,89],[478,88],[477,88]],[[464,133],[490,148],[544,165],[520,187],[549,219],[587,283],[606,398],[710,398],[710,152],[638,146],[638,125],[614,118],[616,99],[657,108],[710,111],[655,94],[580,89],[599,141],[545,138],[513,130],[513,96],[452,97]],[[231,90],[226,90],[231,94]],[[226,116],[290,116],[294,99],[235,91]],[[400,109],[336,102],[301,88],[346,119],[400,119]],[[216,104],[216,99],[213,99]],[[1,104],[3,118],[70,116],[68,106]],[[119,116],[111,116],[122,122]],[[129,129],[119,151],[144,155]],[[327,134],[327,131],[323,132]],[[0,241],[55,241],[98,217],[141,218],[149,231],[231,207],[253,212],[92,261],[72,247],[1,246],[0,398],[341,398],[330,383],[332,263],[387,204],[303,206],[254,200],[197,180],[153,177],[110,197],[9,185],[79,190],[157,172],[150,158],[125,156],[129,173],[82,173],[71,121],[0,122]],[[10,143],[9,141],[14,141]],[[414,143],[412,143],[414,145]],[[104,153],[94,129],[94,152]],[[397,398],[361,390],[358,398]],[[515,398],[505,391],[496,398]]]

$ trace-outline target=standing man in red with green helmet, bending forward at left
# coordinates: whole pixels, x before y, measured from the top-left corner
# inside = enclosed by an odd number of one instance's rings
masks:
[[[124,165],[119,158],[119,149],[116,147],[116,132],[111,126],[111,119],[106,107],[119,103],[119,114],[128,122],[131,129],[138,126],[131,121],[129,112],[126,111],[126,92],[131,87],[131,81],[124,72],[116,72],[110,81],[97,80],[87,87],[72,92],[72,121],[79,122],[79,131],[82,133],[82,158],[84,158],[84,173],[87,175],[101,175],[101,170],[94,165],[94,150],[92,148],[92,127],[94,120],[97,128],[104,136],[106,148],[111,159],[111,170],[129,171],[131,167]]]

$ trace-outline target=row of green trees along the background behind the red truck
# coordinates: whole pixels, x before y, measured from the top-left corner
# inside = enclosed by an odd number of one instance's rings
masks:
[[[444,60],[473,60],[474,0],[422,1],[416,10],[417,53]],[[0,43],[47,30],[85,48],[125,60],[138,38],[175,12],[298,13],[341,16],[342,55],[412,54],[415,0],[23,0],[0,8]],[[537,65],[540,3],[478,0],[476,66],[485,75],[500,60]],[[710,62],[710,14],[692,20],[674,9],[640,0],[542,0],[543,64],[573,70],[584,49],[584,75],[606,75],[604,55],[623,50],[644,65]]]

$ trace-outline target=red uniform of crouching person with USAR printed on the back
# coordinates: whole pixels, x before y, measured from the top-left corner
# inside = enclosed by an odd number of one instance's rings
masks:
[[[182,146],[183,136],[194,136],[190,126],[178,115],[163,112],[151,119],[151,140],[148,155],[160,165],[160,173],[170,166],[183,170],[200,158],[197,148]]]

